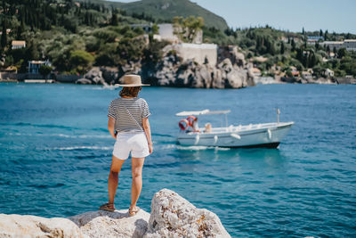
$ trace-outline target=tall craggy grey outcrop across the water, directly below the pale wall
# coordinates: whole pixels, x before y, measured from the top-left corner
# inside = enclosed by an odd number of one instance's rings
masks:
[[[231,56],[232,57],[232,56]],[[179,56],[168,53],[148,80],[157,86],[185,86],[200,88],[240,88],[255,85],[242,53],[233,54],[233,62],[225,58],[215,67],[193,60],[182,62]],[[239,66],[239,64],[240,66]]]

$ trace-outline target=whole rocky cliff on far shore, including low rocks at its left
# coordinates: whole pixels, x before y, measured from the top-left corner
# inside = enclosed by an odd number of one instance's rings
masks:
[[[247,63],[238,47],[219,50],[216,65],[199,64],[193,60],[183,61],[179,54],[166,50],[162,61],[156,65],[131,62],[119,69],[95,67],[77,80],[77,84],[116,84],[125,73],[142,75],[145,83],[152,86],[179,86],[195,88],[240,88],[254,86],[252,65]]]

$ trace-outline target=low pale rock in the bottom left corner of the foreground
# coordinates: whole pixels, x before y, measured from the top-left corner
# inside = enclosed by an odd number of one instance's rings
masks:
[[[0,214],[0,237],[84,237],[66,218]]]

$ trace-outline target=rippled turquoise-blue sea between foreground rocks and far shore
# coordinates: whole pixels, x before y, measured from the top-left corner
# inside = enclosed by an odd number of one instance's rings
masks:
[[[69,217],[107,201],[114,140],[107,110],[118,90],[0,84],[0,213]],[[214,211],[233,237],[356,236],[356,86],[245,89],[145,87],[154,153],[138,205],[169,188]],[[184,110],[228,110],[229,123],[295,121],[279,149],[182,147]],[[200,117],[200,126],[221,124]],[[117,209],[130,204],[130,161]]]

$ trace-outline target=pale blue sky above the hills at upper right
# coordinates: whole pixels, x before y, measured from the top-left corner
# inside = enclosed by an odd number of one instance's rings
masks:
[[[329,33],[335,31],[356,34],[356,0],[190,0],[190,2],[222,16],[233,29],[268,24],[275,29],[293,32],[301,32],[304,28],[306,31],[328,29]]]

